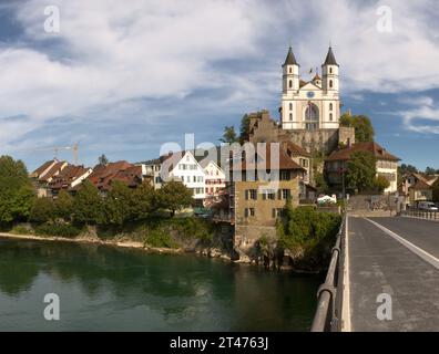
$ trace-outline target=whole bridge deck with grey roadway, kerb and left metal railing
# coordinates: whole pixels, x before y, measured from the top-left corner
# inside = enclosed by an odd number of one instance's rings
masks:
[[[346,215],[312,331],[438,331],[439,218]]]

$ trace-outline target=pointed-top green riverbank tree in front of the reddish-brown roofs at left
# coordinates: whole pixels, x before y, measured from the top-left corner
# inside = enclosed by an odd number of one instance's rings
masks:
[[[84,180],[73,200],[74,221],[98,223],[102,220],[102,198],[90,180]]]

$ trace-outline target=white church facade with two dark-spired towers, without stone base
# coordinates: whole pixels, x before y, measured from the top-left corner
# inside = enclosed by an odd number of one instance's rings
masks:
[[[309,82],[299,75],[299,64],[292,48],[283,65],[280,119],[287,131],[338,129],[340,118],[339,65],[329,46],[321,77]]]

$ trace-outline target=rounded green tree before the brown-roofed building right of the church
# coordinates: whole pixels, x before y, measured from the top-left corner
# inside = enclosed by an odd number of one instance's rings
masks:
[[[346,183],[349,188],[359,191],[374,187],[377,174],[376,158],[369,152],[355,152],[347,166]]]

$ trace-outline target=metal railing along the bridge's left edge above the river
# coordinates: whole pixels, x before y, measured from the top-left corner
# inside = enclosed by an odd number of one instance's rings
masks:
[[[344,214],[325,283],[317,291],[318,303],[312,332],[341,331],[346,218]]]

